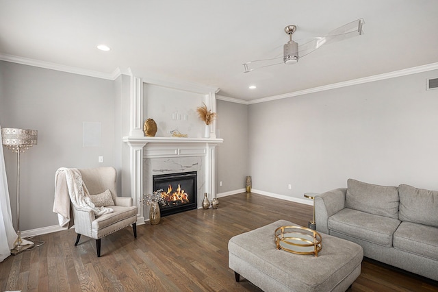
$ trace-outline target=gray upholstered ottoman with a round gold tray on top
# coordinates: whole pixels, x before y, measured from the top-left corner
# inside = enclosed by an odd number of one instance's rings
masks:
[[[229,267],[263,291],[346,291],[361,273],[360,245],[327,234],[318,257],[276,250],[274,231],[297,224],[279,220],[230,239]]]

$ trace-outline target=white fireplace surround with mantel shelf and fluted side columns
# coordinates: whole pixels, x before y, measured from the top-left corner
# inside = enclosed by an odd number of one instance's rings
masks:
[[[216,93],[218,88],[203,86],[183,86],[166,82],[147,82],[175,90],[193,92],[195,97],[203,96],[202,102],[216,112]],[[142,126],[144,81],[131,75],[129,136],[123,141],[129,145],[129,186],[134,204],[138,206],[137,224],[144,223],[144,209],[140,204],[142,194],[151,193],[152,175],[186,171],[198,172],[198,208],[201,206],[203,193],[209,199],[216,196],[216,146],[223,142],[216,138],[216,122],[211,125],[211,138],[183,137],[145,137]],[[147,98],[147,97],[146,97]],[[170,100],[169,103],[172,101]],[[201,100],[200,100],[201,104]],[[128,182],[122,182],[128,183]],[[148,207],[149,208],[149,207]]]

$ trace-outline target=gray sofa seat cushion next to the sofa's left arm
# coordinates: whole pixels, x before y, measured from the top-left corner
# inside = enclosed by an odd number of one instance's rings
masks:
[[[349,208],[342,209],[329,217],[329,230],[385,247],[392,246],[392,236],[399,225],[398,219]]]

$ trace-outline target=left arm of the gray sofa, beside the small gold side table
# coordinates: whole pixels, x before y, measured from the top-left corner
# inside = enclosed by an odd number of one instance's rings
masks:
[[[345,208],[346,188],[336,188],[315,197],[316,230],[329,234],[329,217]]]

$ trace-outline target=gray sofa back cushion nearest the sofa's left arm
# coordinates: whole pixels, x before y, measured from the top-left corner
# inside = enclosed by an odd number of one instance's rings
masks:
[[[347,181],[346,208],[398,219],[398,188]]]

